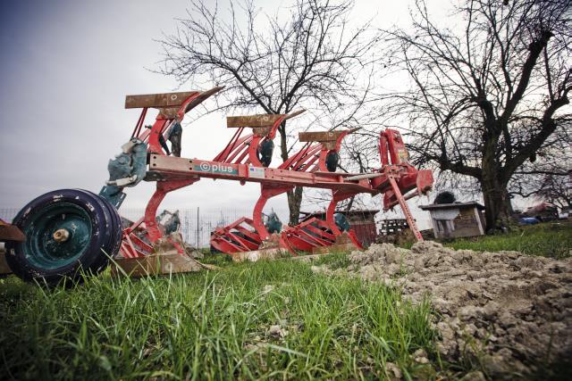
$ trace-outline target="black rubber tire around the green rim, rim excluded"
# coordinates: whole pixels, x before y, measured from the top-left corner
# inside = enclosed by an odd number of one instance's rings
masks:
[[[55,269],[44,269],[27,259],[24,243],[8,243],[6,261],[13,273],[21,279],[28,282],[38,281],[48,286],[54,286],[63,279],[69,279],[71,283],[80,282],[83,280],[82,271],[97,274],[105,269],[109,257],[114,258],[118,253],[122,238],[119,214],[105,199],[86,190],[60,189],[41,195],[22,208],[13,219],[13,225],[25,231],[35,213],[62,202],[75,204],[87,211],[91,222],[91,236],[86,250],[71,263]]]

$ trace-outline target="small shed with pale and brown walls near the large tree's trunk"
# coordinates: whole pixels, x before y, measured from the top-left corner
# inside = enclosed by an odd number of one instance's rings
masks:
[[[435,238],[484,235],[484,206],[480,203],[433,203],[419,208],[431,213]]]

